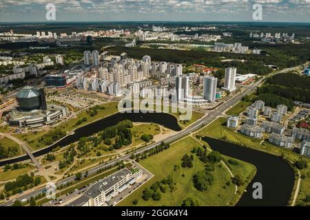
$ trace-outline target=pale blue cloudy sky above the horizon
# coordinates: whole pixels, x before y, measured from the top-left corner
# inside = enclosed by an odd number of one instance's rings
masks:
[[[254,21],[308,22],[310,0],[1,0],[0,22],[50,22],[45,6],[55,5],[55,21]]]

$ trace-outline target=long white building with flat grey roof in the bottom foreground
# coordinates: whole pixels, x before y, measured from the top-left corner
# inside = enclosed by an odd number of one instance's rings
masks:
[[[68,206],[109,206],[112,198],[134,184],[142,175],[142,170],[138,168],[119,170],[90,186],[81,197]]]

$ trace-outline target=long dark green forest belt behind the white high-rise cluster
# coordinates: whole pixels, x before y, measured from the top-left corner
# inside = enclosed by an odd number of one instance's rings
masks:
[[[252,45],[253,47],[258,45]],[[118,55],[126,52],[132,58],[141,59],[144,55],[152,57],[153,61],[167,61],[172,63],[185,63],[185,65],[203,64],[208,67],[237,67],[238,74],[265,75],[271,72],[265,65],[276,65],[280,68],[294,67],[310,60],[310,45],[260,45],[266,47],[271,56],[257,54],[234,54],[227,52],[206,52],[203,50],[158,50],[141,47],[110,47],[108,50]],[[259,48],[260,48],[259,47]],[[284,51],[282,51],[284,50]],[[223,57],[234,60],[245,60],[245,62],[231,61],[221,62]]]

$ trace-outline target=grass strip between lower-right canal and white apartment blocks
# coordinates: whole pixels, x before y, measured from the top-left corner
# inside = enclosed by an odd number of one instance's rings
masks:
[[[300,159],[305,159],[307,160],[308,164],[310,164],[309,157],[304,157],[302,155],[299,155],[298,153],[291,151],[291,149],[282,148],[280,146],[270,144],[267,141],[264,141],[262,142],[262,144],[260,144],[261,140],[259,139],[247,137],[246,135],[242,135],[241,133],[238,133],[233,129],[227,128],[225,125],[223,125],[225,121],[225,118],[218,118],[214,122],[206,126],[204,129],[198,131],[196,135],[206,135],[209,137],[224,138],[225,140],[235,142],[236,144],[244,144],[245,146],[249,146],[259,151],[265,151],[266,153],[281,156],[288,159],[292,163]],[[310,166],[308,165],[307,168],[300,170],[300,173],[304,176],[304,178],[301,179],[300,182],[300,191],[298,193],[296,204],[298,204],[305,197],[307,197],[307,195],[310,194]],[[307,204],[310,205],[310,202],[308,202]]]

